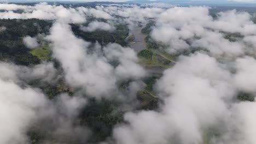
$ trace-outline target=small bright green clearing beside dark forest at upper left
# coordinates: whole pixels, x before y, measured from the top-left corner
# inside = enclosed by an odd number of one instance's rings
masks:
[[[38,57],[40,60],[43,61],[50,61],[51,60],[51,50],[48,45],[42,45],[30,51],[33,56]]]

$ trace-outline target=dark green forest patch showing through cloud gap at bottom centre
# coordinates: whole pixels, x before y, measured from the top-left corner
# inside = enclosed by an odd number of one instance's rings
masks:
[[[80,113],[80,119],[93,132],[90,142],[100,142],[112,134],[115,124],[123,122],[123,112],[118,110],[118,104],[114,101],[91,100],[90,105]]]

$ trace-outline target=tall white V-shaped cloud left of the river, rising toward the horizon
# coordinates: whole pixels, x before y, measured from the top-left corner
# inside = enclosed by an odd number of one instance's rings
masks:
[[[136,53],[132,49],[110,44],[103,47],[103,52],[101,46],[96,46],[95,52],[89,55],[90,43],[75,37],[65,23],[55,23],[46,39],[52,43],[53,56],[61,62],[67,82],[73,87],[84,88],[89,95],[110,97],[117,90],[119,80],[146,75],[136,63]],[[106,57],[101,54],[104,52]],[[120,64],[114,68],[110,61]]]

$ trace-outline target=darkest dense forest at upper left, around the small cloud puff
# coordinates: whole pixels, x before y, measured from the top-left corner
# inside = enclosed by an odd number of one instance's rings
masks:
[[[51,22],[38,19],[2,19],[0,26],[6,29],[0,32],[0,59],[13,61],[16,64],[38,64],[40,59],[31,55],[23,38],[27,35],[35,37],[38,33],[49,33]]]

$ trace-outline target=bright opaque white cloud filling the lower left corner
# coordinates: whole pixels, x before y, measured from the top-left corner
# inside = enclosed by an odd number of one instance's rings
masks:
[[[37,118],[37,109],[44,106],[42,93],[21,88],[13,82],[0,80],[1,135],[0,143],[26,143],[27,127]]]

